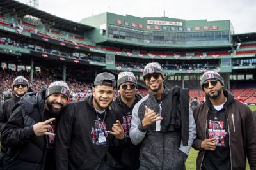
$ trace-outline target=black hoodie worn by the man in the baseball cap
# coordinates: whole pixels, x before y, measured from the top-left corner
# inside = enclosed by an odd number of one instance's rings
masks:
[[[68,103],[63,111],[56,129],[57,169],[109,169],[106,164],[108,149],[118,140],[108,131],[117,118],[110,107],[106,108],[105,118],[105,113],[96,113],[92,99],[90,96],[84,101]],[[99,145],[96,131],[103,120],[107,142]]]

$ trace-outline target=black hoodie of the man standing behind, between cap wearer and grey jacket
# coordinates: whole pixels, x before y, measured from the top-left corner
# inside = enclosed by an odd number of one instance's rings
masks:
[[[116,148],[111,148],[110,153],[115,160],[109,160],[109,166],[115,169],[139,169],[140,167],[140,145],[133,145],[131,139],[129,138],[129,131],[131,128],[131,118],[132,118],[132,109],[142,97],[138,94],[135,95],[135,101],[131,106],[127,106],[121,99],[121,96],[118,95],[115,101],[111,104],[113,112],[118,117],[118,120],[121,122],[125,138],[127,141],[127,146],[116,150]]]

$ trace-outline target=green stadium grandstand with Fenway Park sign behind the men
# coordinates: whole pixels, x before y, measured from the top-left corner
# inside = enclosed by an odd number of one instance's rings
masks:
[[[214,69],[234,96],[240,94],[247,103],[256,103],[256,32],[234,34],[235,29],[230,20],[114,13],[77,23],[18,1],[3,0],[0,61],[2,67],[56,67],[63,80],[70,73],[76,80],[88,82],[103,70],[116,75],[132,71],[141,89],[145,87],[143,66],[159,62],[166,85],[189,88],[191,96],[199,100],[204,97],[200,76]]]

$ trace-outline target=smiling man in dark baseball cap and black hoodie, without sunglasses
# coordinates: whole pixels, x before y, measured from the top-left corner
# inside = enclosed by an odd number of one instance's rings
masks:
[[[110,169],[110,146],[122,145],[124,129],[109,107],[115,76],[97,74],[92,96],[68,104],[56,133],[56,167],[65,169]]]

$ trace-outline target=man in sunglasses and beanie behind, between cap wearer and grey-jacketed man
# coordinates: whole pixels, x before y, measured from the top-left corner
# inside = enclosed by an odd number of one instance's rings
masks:
[[[137,80],[132,72],[124,71],[118,74],[118,97],[111,104],[111,108],[118,116],[124,129],[127,146],[121,150],[113,148],[111,154],[115,160],[109,161],[115,169],[139,169],[140,145],[133,145],[129,138],[131,128],[132,109],[141,96],[137,92]]]

